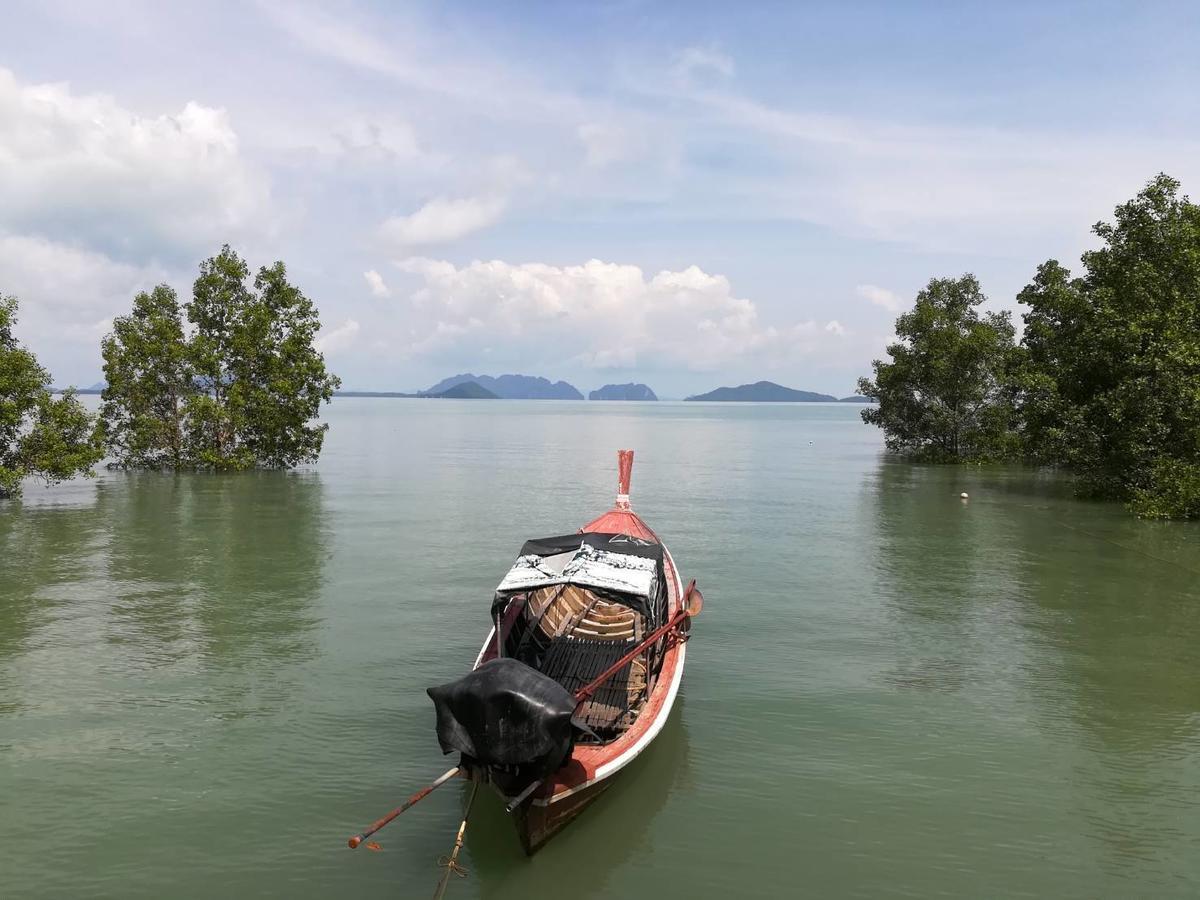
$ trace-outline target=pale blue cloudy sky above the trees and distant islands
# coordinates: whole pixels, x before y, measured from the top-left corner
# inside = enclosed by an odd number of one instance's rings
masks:
[[[59,385],[138,290],[282,259],[346,389],[838,396],[931,278],[1010,308],[1159,172],[1200,5],[6,0],[0,294]]]

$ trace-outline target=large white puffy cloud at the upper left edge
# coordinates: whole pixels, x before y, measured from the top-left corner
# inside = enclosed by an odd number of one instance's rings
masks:
[[[145,251],[236,235],[263,182],[223,109],[140,116],[101,94],[24,84],[0,68],[0,228]]]

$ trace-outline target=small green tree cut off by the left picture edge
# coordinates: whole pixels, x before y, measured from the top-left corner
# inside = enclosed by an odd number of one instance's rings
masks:
[[[103,455],[91,415],[73,391],[54,398],[49,372],[13,336],[16,320],[16,298],[0,296],[0,497],[19,494],[29,476],[90,475]]]

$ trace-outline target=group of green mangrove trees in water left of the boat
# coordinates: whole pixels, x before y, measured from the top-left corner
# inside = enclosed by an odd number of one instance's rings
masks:
[[[101,342],[92,415],[13,336],[18,302],[0,295],[0,498],[109,468],[242,470],[316,461],[320,404],[341,386],[316,348],[317,307],[282,262],[251,281],[228,245],[199,266],[181,304],[158,284],[133,298]],[[186,324],[185,324],[186,318]]]

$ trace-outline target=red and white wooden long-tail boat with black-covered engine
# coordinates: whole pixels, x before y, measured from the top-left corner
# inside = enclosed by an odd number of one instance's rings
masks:
[[[466,748],[461,773],[491,784],[510,811],[516,810],[527,853],[582,812],[650,745],[683,679],[690,616],[698,612],[702,598],[695,582],[684,588],[670,551],[630,508],[632,462],[631,450],[618,452],[612,509],[572,535],[526,542],[497,588],[493,626],[473,674],[430,690],[438,706],[443,750]],[[508,691],[506,683],[503,696],[490,692],[494,685],[476,690],[485,674],[502,671],[494,664],[505,659],[521,664],[518,674],[527,674],[528,666],[536,677],[557,683],[547,691],[569,692],[572,737],[565,756],[554,758],[550,752],[524,760],[509,754],[497,763],[503,754],[491,752],[499,745],[496,742],[520,732],[527,736],[522,745],[532,746],[552,730],[552,724],[539,720],[542,707],[553,706],[552,698],[530,700],[520,686]],[[493,667],[485,672],[488,664]],[[463,696],[460,685],[473,678],[476,688]],[[458,718],[475,716],[470,737],[463,736],[460,721],[449,720],[454,710],[446,703],[452,698],[446,697],[455,690]],[[526,702],[533,708],[532,720]],[[492,712],[481,713],[488,704]]]

